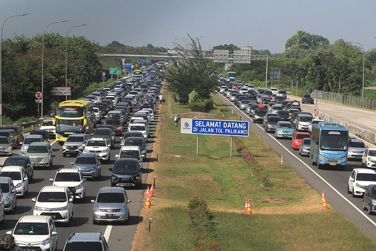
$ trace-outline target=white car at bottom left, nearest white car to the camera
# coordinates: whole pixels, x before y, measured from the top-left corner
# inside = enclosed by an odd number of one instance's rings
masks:
[[[22,216],[14,230],[6,234],[12,235],[22,250],[51,251],[58,246],[55,224],[52,218],[46,215]]]

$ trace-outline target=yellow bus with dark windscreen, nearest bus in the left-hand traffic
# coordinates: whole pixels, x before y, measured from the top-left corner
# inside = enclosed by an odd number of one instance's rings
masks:
[[[93,103],[84,100],[67,100],[59,103],[53,124],[56,127],[56,141],[64,144],[69,135],[92,134],[95,115]]]

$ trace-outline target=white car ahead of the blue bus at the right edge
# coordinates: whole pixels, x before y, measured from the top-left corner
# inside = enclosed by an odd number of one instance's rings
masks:
[[[368,185],[376,184],[376,172],[368,168],[353,169],[349,184],[347,185],[347,193],[352,196],[363,196]]]

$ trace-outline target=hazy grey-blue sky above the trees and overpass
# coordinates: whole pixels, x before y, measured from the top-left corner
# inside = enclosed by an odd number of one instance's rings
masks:
[[[101,45],[117,40],[130,46],[173,47],[175,35],[203,36],[204,50],[233,43],[283,52],[297,30],[318,34],[331,43],[339,38],[376,47],[374,0],[0,0],[0,22],[14,14],[30,13],[6,21],[3,38],[14,34],[32,37],[47,31],[84,35]]]

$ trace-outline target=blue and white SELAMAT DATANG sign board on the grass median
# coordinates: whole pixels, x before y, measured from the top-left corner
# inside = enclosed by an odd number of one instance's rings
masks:
[[[182,119],[181,133],[248,137],[248,121]]]

